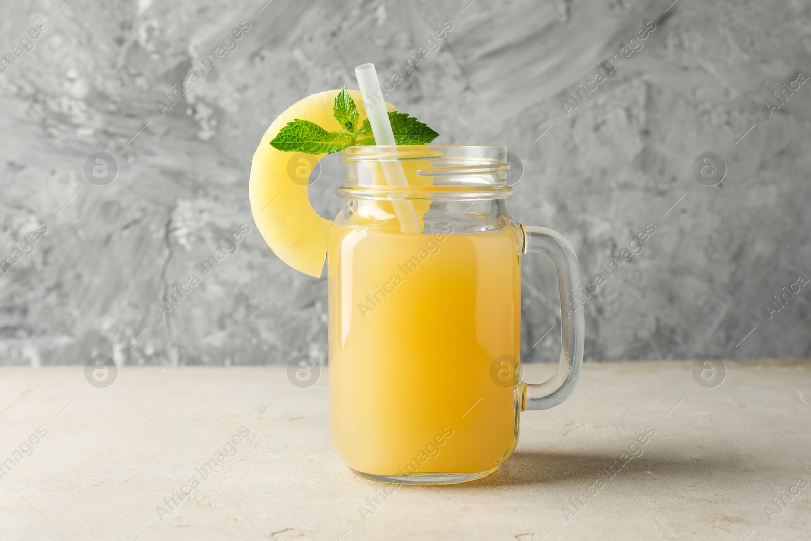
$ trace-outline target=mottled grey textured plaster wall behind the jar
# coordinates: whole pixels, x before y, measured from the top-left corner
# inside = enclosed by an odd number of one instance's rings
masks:
[[[404,72],[444,21],[440,49],[388,100],[438,142],[508,144],[522,161],[514,216],[566,235],[596,291],[586,360],[809,357],[809,288],[774,298],[811,277],[811,83],[796,82],[811,72],[809,2],[62,2],[0,5],[13,59],[0,73],[0,257],[15,262],[0,277],[0,363],[324,359],[326,281],[264,246],[251,155],[288,105],[354,88],[363,62]],[[241,21],[237,48],[203,74],[197,61]],[[579,84],[596,85],[581,102]],[[799,89],[770,113],[783,84]],[[117,164],[105,186],[85,174],[94,152]],[[693,174],[703,152],[726,164],[717,186]],[[328,159],[311,187],[324,216],[339,178]],[[238,250],[161,319],[162,295],[242,224]],[[556,359],[551,270],[525,262],[526,360]]]

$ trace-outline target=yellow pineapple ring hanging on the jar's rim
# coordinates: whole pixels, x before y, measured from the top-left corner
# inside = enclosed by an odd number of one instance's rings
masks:
[[[307,178],[325,154],[282,152],[270,145],[281,128],[296,118],[315,122],[326,131],[342,131],[333,117],[333,103],[341,90],[327,90],[305,97],[290,106],[264,132],[251,165],[248,193],[256,226],[279,259],[302,273],[320,277],[327,255],[332,220],[320,217],[307,196]],[[350,90],[358,106],[360,122],[366,118],[363,97]],[[386,109],[397,110],[387,103]]]

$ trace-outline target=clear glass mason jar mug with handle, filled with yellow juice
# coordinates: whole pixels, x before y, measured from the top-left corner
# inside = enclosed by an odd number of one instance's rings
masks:
[[[585,323],[573,248],[510,216],[504,146],[358,146],[341,163],[345,204],[328,244],[337,452],[388,483],[490,474],[515,449],[519,413],[556,406],[577,383]],[[519,377],[519,265],[530,251],[556,264],[560,286],[560,366],[543,384]]]

